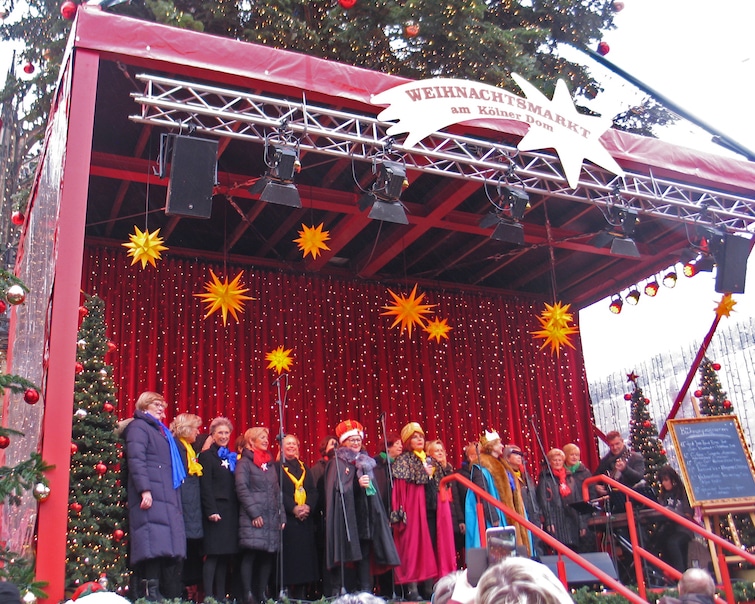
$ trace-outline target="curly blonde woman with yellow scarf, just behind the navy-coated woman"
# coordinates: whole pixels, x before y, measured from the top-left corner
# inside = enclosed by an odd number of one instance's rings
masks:
[[[186,478],[180,487],[181,509],[183,510],[184,530],[186,531],[186,560],[181,571],[181,588],[184,595],[195,596],[196,586],[202,583],[202,504],[199,492],[199,478],[202,466],[197,460],[194,444],[199,435],[202,418],[193,413],[181,413],[170,423],[183,462]],[[193,586],[193,587],[192,587]],[[195,597],[188,599],[194,600]]]

